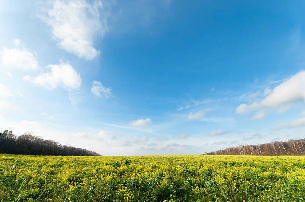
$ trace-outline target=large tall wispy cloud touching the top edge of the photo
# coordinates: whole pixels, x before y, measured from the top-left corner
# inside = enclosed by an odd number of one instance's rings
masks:
[[[93,47],[94,37],[106,33],[108,15],[100,0],[55,0],[42,19],[61,48],[90,60],[99,53]]]

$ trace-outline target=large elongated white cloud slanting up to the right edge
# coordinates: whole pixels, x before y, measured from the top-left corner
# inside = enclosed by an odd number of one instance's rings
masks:
[[[252,110],[285,106],[291,102],[305,101],[305,71],[292,76],[276,86],[273,91],[260,102],[241,104],[236,108],[237,114],[245,114]],[[285,107],[284,107],[285,108]],[[258,115],[262,115],[258,114]]]

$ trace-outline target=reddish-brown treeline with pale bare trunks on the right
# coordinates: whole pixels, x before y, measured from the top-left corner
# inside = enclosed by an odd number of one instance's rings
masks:
[[[259,145],[239,145],[238,147],[208,152],[205,155],[305,155],[305,139],[271,142]]]

